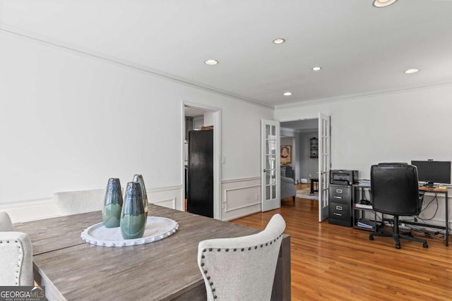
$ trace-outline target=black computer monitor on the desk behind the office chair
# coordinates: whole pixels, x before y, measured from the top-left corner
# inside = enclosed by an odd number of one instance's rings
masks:
[[[433,183],[451,183],[451,161],[411,161],[411,165],[417,167],[417,179],[429,187]]]

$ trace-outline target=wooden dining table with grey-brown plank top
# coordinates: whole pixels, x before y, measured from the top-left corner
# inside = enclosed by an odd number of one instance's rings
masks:
[[[198,243],[259,230],[154,204],[150,216],[179,223],[176,233],[144,245],[102,247],[81,239],[100,211],[16,223],[33,247],[35,281],[48,300],[206,300]],[[253,283],[250,283],[253,285]],[[290,300],[290,236],[281,242],[272,300]]]

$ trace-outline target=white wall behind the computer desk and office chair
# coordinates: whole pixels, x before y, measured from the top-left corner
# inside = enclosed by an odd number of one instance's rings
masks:
[[[333,168],[357,169],[384,161],[452,160],[452,85],[439,85],[306,106],[281,106],[278,121],[331,115]],[[451,195],[451,194],[449,194]],[[441,212],[441,210],[443,210]],[[444,199],[436,220],[444,221]],[[449,218],[450,219],[450,218]]]

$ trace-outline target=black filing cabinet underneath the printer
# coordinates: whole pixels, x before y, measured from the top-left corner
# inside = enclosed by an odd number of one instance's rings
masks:
[[[328,223],[353,226],[352,186],[330,185]]]

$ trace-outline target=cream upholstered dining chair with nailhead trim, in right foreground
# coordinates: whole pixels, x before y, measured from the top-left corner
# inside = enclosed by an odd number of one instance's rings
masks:
[[[270,300],[284,229],[275,214],[260,233],[199,242],[207,300]]]

